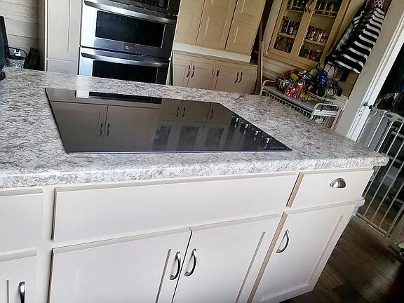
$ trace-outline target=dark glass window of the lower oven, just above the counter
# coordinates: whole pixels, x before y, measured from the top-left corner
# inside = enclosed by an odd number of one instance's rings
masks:
[[[109,79],[156,83],[157,67],[142,67],[104,61],[94,61],[93,76]]]

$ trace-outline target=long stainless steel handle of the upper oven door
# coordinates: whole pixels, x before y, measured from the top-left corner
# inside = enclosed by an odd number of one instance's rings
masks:
[[[107,1],[108,4],[100,4],[98,0],[84,0],[84,4],[86,6],[91,6],[93,8],[97,8],[100,11],[106,11],[108,13],[115,13],[118,15],[126,15],[128,17],[134,17],[143,20],[152,20],[161,23],[175,24],[177,21],[175,19],[163,18],[156,15],[148,15],[145,13],[140,13],[137,11],[128,10],[126,8],[122,8],[119,4],[116,4],[111,1]],[[135,8],[133,8],[135,9]]]

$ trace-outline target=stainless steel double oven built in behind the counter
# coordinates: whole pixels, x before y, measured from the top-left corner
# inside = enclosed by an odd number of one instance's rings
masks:
[[[79,74],[166,83],[180,0],[83,0]]]

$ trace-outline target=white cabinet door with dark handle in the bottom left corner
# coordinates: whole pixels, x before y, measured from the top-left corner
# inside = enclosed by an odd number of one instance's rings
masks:
[[[36,303],[36,251],[0,256],[0,302]]]

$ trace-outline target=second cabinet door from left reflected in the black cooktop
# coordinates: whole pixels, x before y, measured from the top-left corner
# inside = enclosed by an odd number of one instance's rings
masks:
[[[158,107],[108,106],[104,152],[150,150],[154,144]]]

